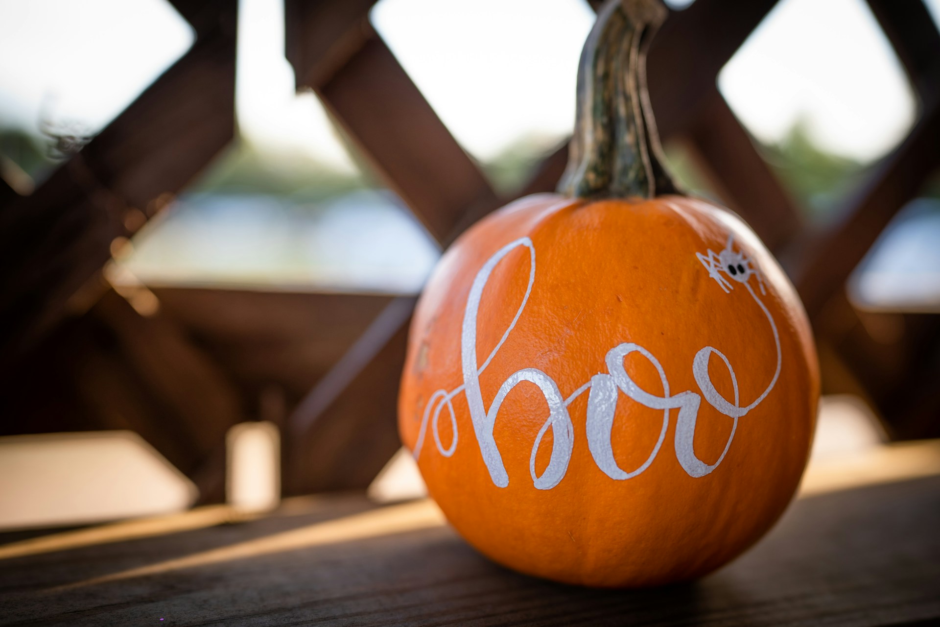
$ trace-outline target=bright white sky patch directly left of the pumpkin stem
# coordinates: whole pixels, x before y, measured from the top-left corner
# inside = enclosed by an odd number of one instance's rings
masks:
[[[372,22],[463,147],[571,133],[584,0],[382,0]]]

